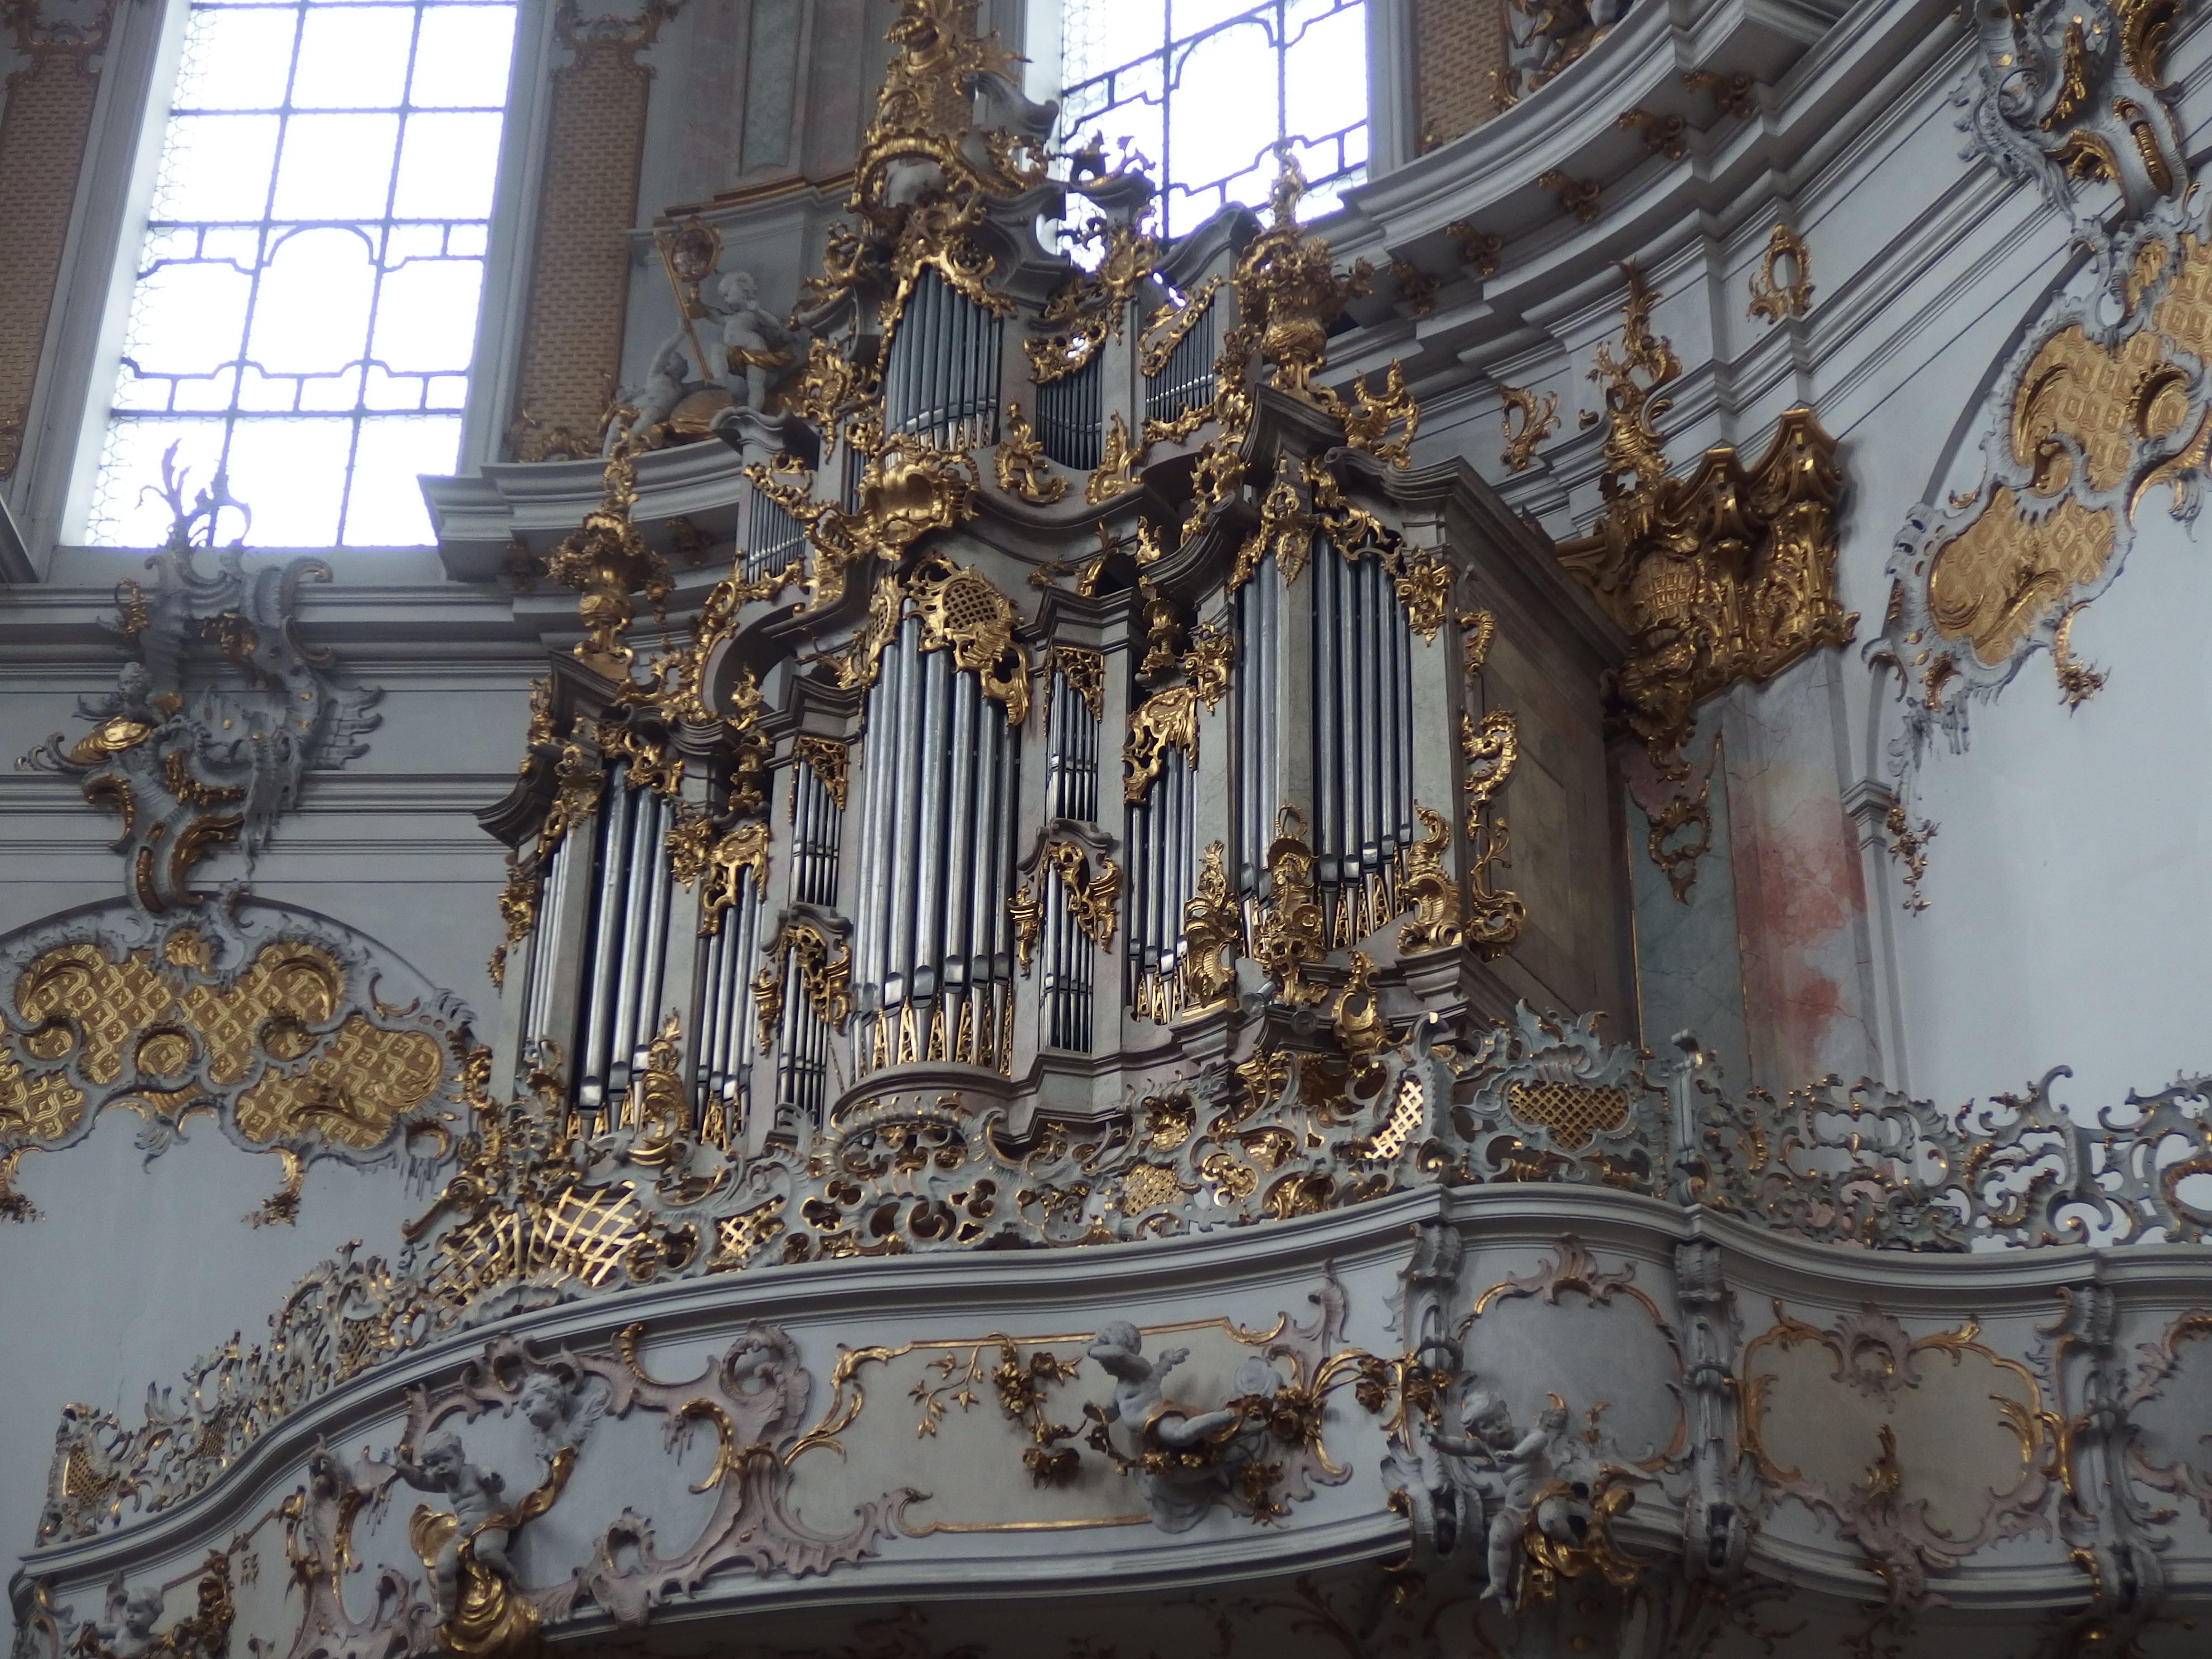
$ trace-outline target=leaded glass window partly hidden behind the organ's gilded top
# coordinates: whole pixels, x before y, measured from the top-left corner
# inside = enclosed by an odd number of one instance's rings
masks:
[[[1263,204],[1274,146],[1314,186],[1303,215],[1367,177],[1363,0],[1066,0],[1060,137],[1128,139],[1164,186],[1170,237]]]

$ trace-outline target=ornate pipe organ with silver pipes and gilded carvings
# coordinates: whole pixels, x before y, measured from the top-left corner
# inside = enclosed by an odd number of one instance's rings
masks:
[[[1400,1020],[1416,984],[1493,1013],[1613,984],[1588,849],[1506,852],[1515,757],[1601,768],[1606,624],[1473,473],[1411,465],[1396,369],[1327,365],[1367,274],[1298,223],[1296,168],[1161,246],[1139,175],[1048,175],[1048,113],[894,91],[803,363],[717,427],[726,580],[635,615],[670,531],[630,440],[564,542],[628,549],[586,591],[622,648],[557,659],[487,814],[513,1086],[588,1133],[675,1064],[684,1133],[774,1159],[900,1088],[1082,1121],[1135,1057],[1345,1042],[1354,978]],[[1535,661],[1586,690],[1546,701],[1566,728],[1524,730]]]

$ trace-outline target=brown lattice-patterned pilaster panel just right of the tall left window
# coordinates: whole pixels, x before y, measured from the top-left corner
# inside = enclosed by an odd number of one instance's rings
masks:
[[[515,460],[599,453],[599,418],[622,374],[628,230],[637,221],[653,84],[637,51],[659,31],[661,15],[661,7],[650,7],[644,29],[619,40],[573,40],[575,62],[553,71],[529,323],[509,429]]]

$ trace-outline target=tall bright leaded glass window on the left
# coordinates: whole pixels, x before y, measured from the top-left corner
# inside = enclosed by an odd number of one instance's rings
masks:
[[[192,0],[88,535],[159,546],[161,456],[254,546],[431,542],[460,456],[513,0]]]

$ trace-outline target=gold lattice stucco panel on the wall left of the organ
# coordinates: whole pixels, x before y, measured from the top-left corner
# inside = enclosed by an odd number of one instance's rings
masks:
[[[254,1219],[290,1221],[307,1159],[451,1135],[467,1011],[427,989],[383,1002],[405,969],[327,925],[210,911],[124,947],[93,920],[24,936],[0,969],[0,1170],[80,1141],[108,1108],[146,1119],[150,1152],[204,1113],[283,1155],[283,1190]],[[4,1181],[0,1214],[31,1214]]]

